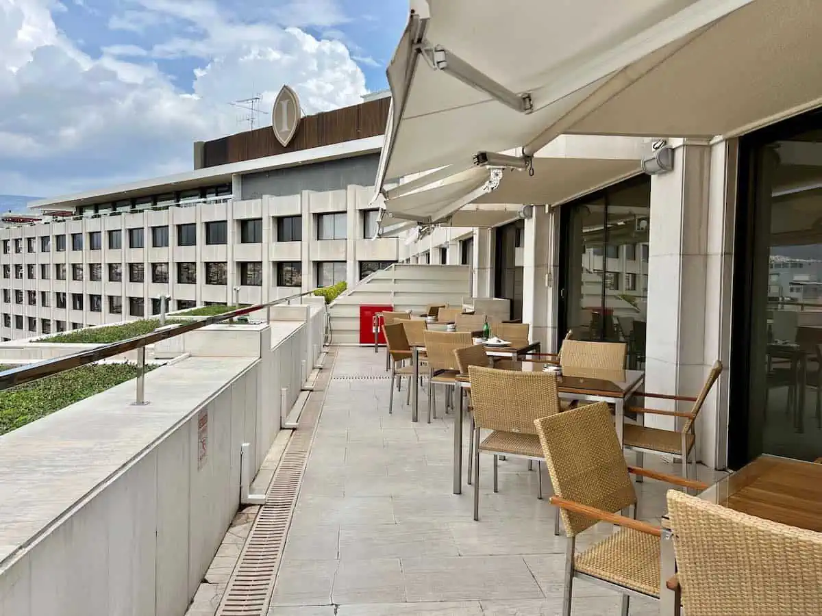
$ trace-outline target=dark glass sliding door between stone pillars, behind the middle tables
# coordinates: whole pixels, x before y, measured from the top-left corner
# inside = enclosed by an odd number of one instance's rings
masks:
[[[560,332],[626,342],[630,367],[645,357],[649,204],[643,176],[561,206]]]

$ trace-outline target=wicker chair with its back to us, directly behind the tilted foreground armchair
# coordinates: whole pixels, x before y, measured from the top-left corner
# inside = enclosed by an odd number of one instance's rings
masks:
[[[499,491],[499,457],[522,457],[538,462],[538,498],[543,498],[539,445],[534,421],[559,412],[556,375],[545,372],[496,370],[469,365],[473,402],[473,519],[479,520],[479,454],[494,456],[494,491]],[[492,430],[480,442],[480,430]]]

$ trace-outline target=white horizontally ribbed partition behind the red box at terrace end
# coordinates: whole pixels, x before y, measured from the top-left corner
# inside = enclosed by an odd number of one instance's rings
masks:
[[[469,265],[397,263],[371,274],[330,305],[331,342],[360,342],[360,306],[423,310],[428,304],[462,306],[470,294]]]

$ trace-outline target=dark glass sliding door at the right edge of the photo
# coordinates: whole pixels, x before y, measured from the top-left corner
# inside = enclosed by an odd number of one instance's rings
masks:
[[[822,456],[822,116],[741,143],[729,457]]]

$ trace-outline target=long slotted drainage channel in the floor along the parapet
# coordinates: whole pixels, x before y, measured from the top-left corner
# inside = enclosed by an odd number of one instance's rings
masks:
[[[326,358],[335,359],[331,353]],[[334,369],[333,361],[323,370],[318,383],[302,410],[280,459],[274,479],[248,533],[237,566],[234,568],[215,616],[265,616],[274,592],[279,559],[283,554],[294,506],[297,504],[302,474],[311,451],[312,439],[326,397],[324,382]]]

